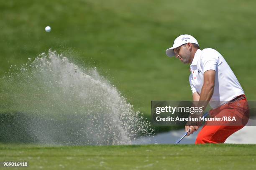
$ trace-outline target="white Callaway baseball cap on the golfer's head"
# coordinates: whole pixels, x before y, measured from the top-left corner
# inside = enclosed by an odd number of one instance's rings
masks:
[[[177,48],[177,47],[179,47],[179,46],[182,46],[183,44],[187,44],[187,43],[195,43],[195,44],[197,44],[197,45],[199,46],[197,40],[196,40],[194,37],[192,37],[192,36],[190,36],[190,35],[188,35],[188,34],[184,34],[184,35],[178,36],[178,37],[174,40],[174,44],[172,45],[172,47],[171,47],[171,48],[168,48],[168,49],[166,50],[166,55],[167,55],[168,57],[173,57],[173,56],[175,56],[173,49],[174,49],[174,48]]]

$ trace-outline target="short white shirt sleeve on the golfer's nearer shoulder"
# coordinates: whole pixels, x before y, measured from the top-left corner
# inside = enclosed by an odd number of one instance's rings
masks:
[[[201,58],[202,72],[207,70],[217,70],[218,67],[218,53],[213,50],[205,50]]]

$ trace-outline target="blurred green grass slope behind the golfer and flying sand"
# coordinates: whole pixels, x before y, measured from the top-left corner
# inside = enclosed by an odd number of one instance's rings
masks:
[[[189,67],[165,55],[187,33],[223,54],[255,100],[255,6],[253,0],[1,1],[0,76],[52,48],[80,66],[96,66],[149,115],[151,100],[192,99]]]

